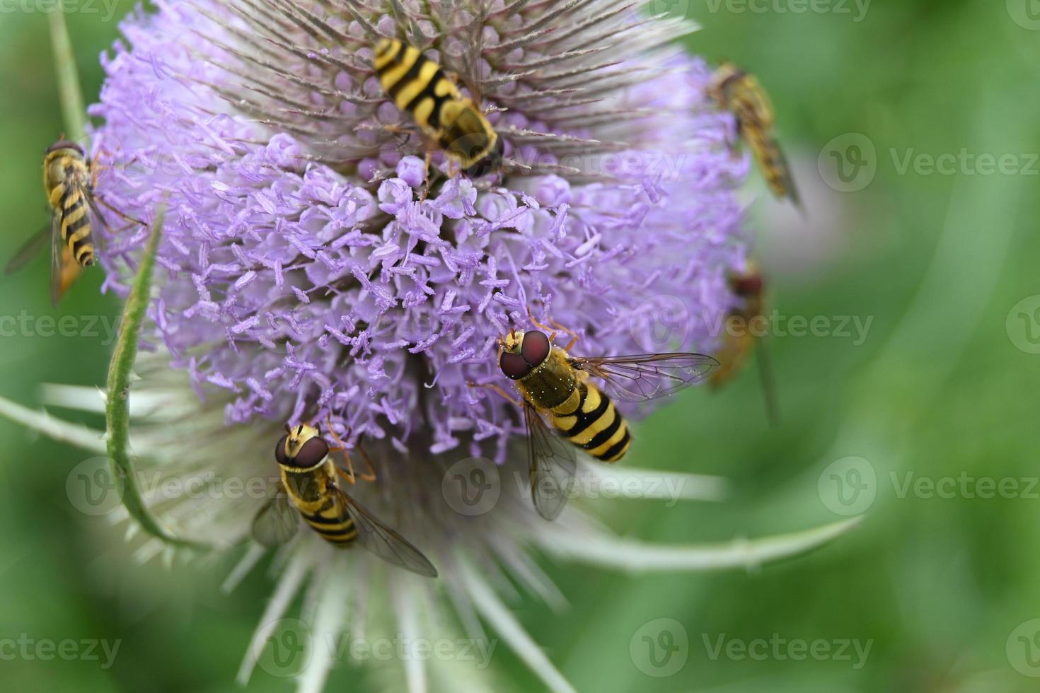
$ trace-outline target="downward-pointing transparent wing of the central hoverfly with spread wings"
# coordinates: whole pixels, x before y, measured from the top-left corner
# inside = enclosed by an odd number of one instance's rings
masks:
[[[527,455],[530,492],[535,509],[546,519],[555,519],[567,505],[567,494],[577,469],[574,446],[552,432],[527,402],[523,404],[527,424]]]

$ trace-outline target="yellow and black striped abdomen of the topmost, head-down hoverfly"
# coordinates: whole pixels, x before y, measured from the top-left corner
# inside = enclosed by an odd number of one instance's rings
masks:
[[[384,38],[375,46],[375,75],[397,108],[411,113],[434,138],[442,128],[444,104],[463,100],[440,65],[396,38]]]

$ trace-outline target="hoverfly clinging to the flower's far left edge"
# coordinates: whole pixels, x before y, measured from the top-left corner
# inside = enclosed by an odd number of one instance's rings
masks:
[[[104,224],[94,195],[94,170],[83,149],[67,139],[47,148],[44,155],[44,190],[51,207],[51,224],[15,254],[9,274],[31,260],[51,237],[51,301],[58,300],[95,262],[94,230]]]

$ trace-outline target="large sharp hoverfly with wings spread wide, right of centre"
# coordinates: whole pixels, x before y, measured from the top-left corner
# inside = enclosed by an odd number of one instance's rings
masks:
[[[567,503],[577,448],[604,462],[616,462],[628,452],[631,433],[610,398],[642,402],[671,395],[703,380],[719,366],[700,353],[572,356],[568,351],[577,336],[552,324],[571,336],[566,348],[553,344],[555,331],[535,322],[550,334],[512,330],[501,339],[498,356],[502,373],[523,397],[531,497],[546,519],[555,518]],[[602,388],[590,376],[602,380]]]

